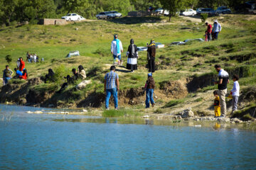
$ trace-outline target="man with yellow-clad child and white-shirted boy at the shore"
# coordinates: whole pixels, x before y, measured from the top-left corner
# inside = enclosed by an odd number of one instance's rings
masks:
[[[228,72],[220,67],[219,64],[215,64],[215,70],[218,72],[218,81],[214,81],[214,84],[218,84],[218,91],[213,91],[214,99],[214,108],[215,108],[215,117],[223,118],[227,115],[227,107],[225,103],[225,96],[227,94],[227,85],[230,83]],[[230,91],[232,96],[232,113],[238,110],[238,98],[240,86],[238,83],[239,76],[233,75],[233,89]]]

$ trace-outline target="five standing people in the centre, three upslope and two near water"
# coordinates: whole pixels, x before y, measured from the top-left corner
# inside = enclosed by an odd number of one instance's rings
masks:
[[[152,107],[154,107],[154,78],[153,78],[153,72],[155,72],[155,56],[156,56],[156,44],[154,40],[151,40],[150,44],[147,45],[147,62],[149,67],[149,74],[148,79],[146,81],[146,84],[144,86],[144,90],[146,91],[146,108],[149,108],[151,102]],[[118,63],[122,65],[122,57],[121,52],[123,52],[122,42],[118,39],[118,35],[114,35],[114,40],[112,40],[111,43],[111,53],[114,57],[114,64]],[[126,52],[127,56],[127,69],[131,70],[131,72],[134,72],[134,70],[137,70],[137,62],[138,62],[138,49],[137,45],[134,44],[134,40],[130,40],[130,45],[128,47],[128,50]],[[114,108],[118,109],[118,98],[117,98],[117,91],[119,91],[119,76],[115,72],[116,67],[113,65],[110,67],[110,72],[108,72],[105,75],[105,83],[104,83],[104,89],[106,93],[105,98],[105,108],[109,109],[109,101],[110,97],[113,96],[114,98]]]

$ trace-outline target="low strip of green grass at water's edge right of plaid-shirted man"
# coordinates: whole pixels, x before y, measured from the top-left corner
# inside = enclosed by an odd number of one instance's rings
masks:
[[[134,109],[119,109],[119,110],[105,110],[102,113],[103,117],[136,117],[143,115]]]

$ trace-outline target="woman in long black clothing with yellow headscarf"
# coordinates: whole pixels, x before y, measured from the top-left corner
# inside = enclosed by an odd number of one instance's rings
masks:
[[[149,65],[149,72],[155,72],[155,57],[156,57],[156,43],[154,40],[150,41],[147,49],[147,61]]]

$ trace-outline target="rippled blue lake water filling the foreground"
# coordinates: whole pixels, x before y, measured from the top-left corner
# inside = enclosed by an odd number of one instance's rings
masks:
[[[256,134],[235,125],[0,109],[0,169],[256,169]]]

